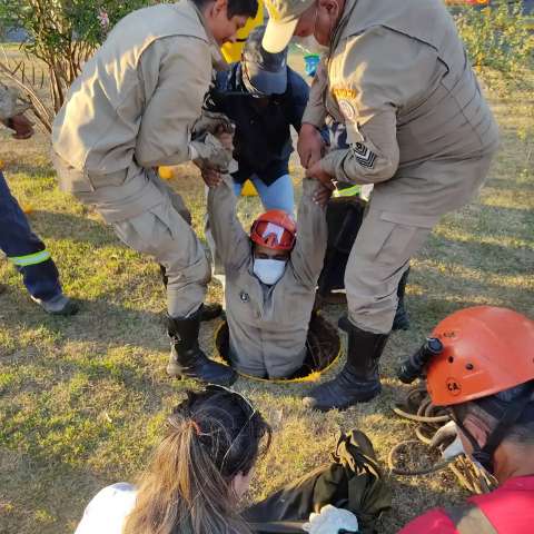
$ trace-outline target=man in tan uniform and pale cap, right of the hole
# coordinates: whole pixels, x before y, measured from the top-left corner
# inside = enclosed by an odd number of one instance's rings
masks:
[[[442,0],[266,3],[266,50],[293,33],[329,50],[299,135],[307,175],[330,187],[375,185],[345,273],[347,363],[306,398],[345,408],[379,393],[398,281],[439,217],[479,190],[498,131]],[[317,128],[327,116],[345,123],[349,146],[323,155]]]

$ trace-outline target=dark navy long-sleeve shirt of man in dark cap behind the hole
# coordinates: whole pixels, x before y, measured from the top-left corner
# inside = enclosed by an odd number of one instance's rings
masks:
[[[289,67],[286,92],[273,95],[264,103],[247,91],[240,63],[217,73],[210,91],[211,109],[225,113],[236,125],[234,158],[239,170],[233,175],[235,181],[243,184],[256,174],[269,186],[288,174],[293,152],[290,127],[300,130],[308,95],[306,81]]]

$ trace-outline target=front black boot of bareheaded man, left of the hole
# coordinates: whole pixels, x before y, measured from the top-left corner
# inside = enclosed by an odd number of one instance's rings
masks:
[[[237,379],[236,372],[209,359],[198,346],[200,315],[201,308],[185,319],[168,317],[171,349],[167,373],[170,376],[229,386]]]

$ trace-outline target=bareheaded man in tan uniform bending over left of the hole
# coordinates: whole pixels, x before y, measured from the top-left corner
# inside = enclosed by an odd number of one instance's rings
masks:
[[[194,160],[224,169],[214,132],[191,140],[218,47],[257,11],[256,0],[180,0],[121,20],[86,63],[58,113],[52,158],[60,187],[96,209],[131,248],[165,267],[168,373],[230,384],[235,373],[198,345],[209,267],[181,198],[155,167]]]

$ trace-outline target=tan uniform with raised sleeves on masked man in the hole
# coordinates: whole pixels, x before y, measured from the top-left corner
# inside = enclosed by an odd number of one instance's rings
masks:
[[[327,237],[325,209],[312,199],[316,188],[315,180],[304,180],[297,241],[284,276],[270,288],[253,274],[251,243],[237,219],[231,186],[209,190],[209,222],[226,274],[230,354],[243,373],[287,377],[304,362]]]

